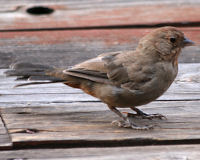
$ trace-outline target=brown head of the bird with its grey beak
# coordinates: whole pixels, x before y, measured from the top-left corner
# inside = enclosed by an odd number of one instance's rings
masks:
[[[181,49],[192,45],[194,42],[175,27],[155,29],[139,42],[139,47],[156,52],[164,60],[177,60]]]

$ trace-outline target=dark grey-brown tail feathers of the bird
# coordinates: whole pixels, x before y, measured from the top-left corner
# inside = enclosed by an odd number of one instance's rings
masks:
[[[58,83],[64,82],[59,76],[52,76],[58,69],[41,64],[32,63],[15,63],[11,65],[11,69],[5,72],[6,76],[16,76],[16,80],[33,80],[35,82],[18,84],[15,87],[34,85],[34,84],[47,84],[47,83]]]

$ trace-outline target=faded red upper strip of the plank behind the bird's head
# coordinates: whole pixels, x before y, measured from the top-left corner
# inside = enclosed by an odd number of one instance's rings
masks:
[[[200,27],[181,28],[185,35],[193,41],[200,40]],[[57,31],[25,31],[3,32],[0,34],[0,46],[5,45],[9,39],[19,38],[17,45],[25,44],[58,44],[66,42],[91,42],[104,41],[109,45],[137,43],[141,37],[151,32],[152,28],[146,29],[94,29],[94,30],[57,30]],[[199,43],[200,44],[200,43]],[[9,43],[8,43],[9,45]],[[14,45],[14,44],[13,44]],[[136,44],[135,44],[136,45]]]

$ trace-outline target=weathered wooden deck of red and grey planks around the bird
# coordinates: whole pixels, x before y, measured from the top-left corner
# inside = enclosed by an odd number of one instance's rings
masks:
[[[199,159],[200,1],[3,0],[0,5],[0,159]],[[53,11],[27,13],[34,6]],[[197,46],[183,50],[170,89],[140,107],[167,119],[134,118],[156,125],[153,130],[111,125],[118,117],[78,89],[63,84],[13,88],[23,82],[3,74],[16,61],[63,67],[134,49],[143,35],[165,25],[179,27]]]

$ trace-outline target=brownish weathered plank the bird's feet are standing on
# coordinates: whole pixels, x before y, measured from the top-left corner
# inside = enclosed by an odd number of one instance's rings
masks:
[[[167,120],[133,118],[154,130],[135,131],[110,124],[117,117],[102,103],[77,103],[54,107],[4,108],[2,116],[14,147],[121,146],[200,141],[199,101],[154,102],[141,107],[161,113]],[[95,107],[93,107],[95,106]],[[124,109],[123,111],[128,111]],[[139,139],[139,141],[138,141]]]

